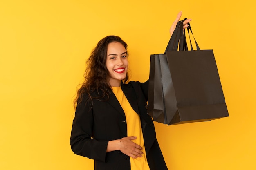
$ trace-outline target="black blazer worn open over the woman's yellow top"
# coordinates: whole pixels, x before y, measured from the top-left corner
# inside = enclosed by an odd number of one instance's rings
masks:
[[[167,170],[153,121],[147,114],[148,81],[122,83],[121,88],[140,116],[150,170]],[[108,101],[93,99],[93,104],[89,105],[85,105],[85,99],[86,96],[76,107],[70,138],[72,151],[94,159],[95,170],[130,170],[130,159],[126,154],[119,150],[106,153],[108,141],[127,137],[126,117],[115,94],[110,94]]]

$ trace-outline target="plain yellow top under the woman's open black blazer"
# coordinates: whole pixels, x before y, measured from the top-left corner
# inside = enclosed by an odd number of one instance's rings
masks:
[[[146,158],[146,151],[145,151],[144,139],[143,139],[143,134],[141,129],[140,117],[132,109],[121,87],[112,87],[112,88],[126,116],[127,136],[129,137],[136,136],[137,138],[132,141],[142,147],[142,150],[141,150],[143,152],[142,157],[137,157],[136,159],[130,157],[131,170],[150,170],[148,166],[148,161]]]

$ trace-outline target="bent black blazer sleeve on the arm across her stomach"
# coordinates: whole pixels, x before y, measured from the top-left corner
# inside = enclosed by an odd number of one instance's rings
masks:
[[[92,138],[93,124],[92,104],[85,105],[84,98],[76,107],[70,137],[71,149],[75,154],[105,162],[108,141],[97,141]]]

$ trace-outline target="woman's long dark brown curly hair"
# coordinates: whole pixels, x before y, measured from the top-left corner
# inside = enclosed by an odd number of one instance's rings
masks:
[[[110,93],[112,93],[112,87],[109,83],[110,75],[106,67],[108,44],[111,42],[120,42],[124,45],[127,53],[127,44],[119,36],[106,36],[98,42],[86,61],[85,80],[77,91],[74,107],[82,101],[83,94],[88,94],[88,98],[86,98],[85,102],[87,103],[88,101],[92,101],[92,98],[108,100]],[[126,78],[123,80],[123,83],[127,81],[128,73],[126,73]],[[91,96],[91,93],[95,91],[98,95]]]

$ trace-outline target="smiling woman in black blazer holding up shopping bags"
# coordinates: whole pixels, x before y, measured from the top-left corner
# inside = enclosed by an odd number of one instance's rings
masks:
[[[183,27],[190,21],[184,21]],[[120,37],[107,36],[88,58],[85,81],[75,100],[71,148],[94,159],[95,170],[167,170],[147,114],[148,81],[127,83],[126,49]]]

